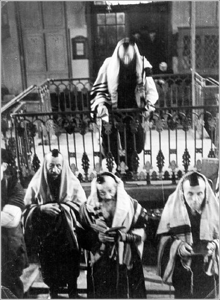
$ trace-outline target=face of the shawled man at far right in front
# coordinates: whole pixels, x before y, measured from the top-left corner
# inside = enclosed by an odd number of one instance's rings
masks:
[[[198,186],[190,186],[189,180],[183,182],[183,193],[187,204],[189,205],[192,213],[195,212],[201,213],[201,205],[205,199],[205,181],[199,178]]]

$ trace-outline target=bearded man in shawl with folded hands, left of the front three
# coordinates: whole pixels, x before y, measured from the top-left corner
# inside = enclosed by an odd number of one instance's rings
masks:
[[[26,196],[25,237],[38,240],[43,281],[50,297],[58,297],[58,288],[68,285],[70,298],[77,297],[80,251],[76,228],[79,207],[86,200],[79,180],[54,149],[43,160],[32,178]]]

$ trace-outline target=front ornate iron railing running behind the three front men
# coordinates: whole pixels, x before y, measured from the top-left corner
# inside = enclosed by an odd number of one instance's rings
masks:
[[[210,113],[210,109],[216,113]],[[163,107],[148,116],[141,109],[113,110],[109,115],[111,122],[103,123],[108,149],[105,157],[101,127],[92,119],[90,110],[15,113],[12,118],[18,168],[23,178],[32,176],[45,153],[58,148],[81,182],[91,181],[95,174],[106,169],[128,181],[144,180],[149,185],[152,180],[162,179],[175,183],[190,169],[200,171],[202,157],[216,157],[213,136],[218,124],[217,109],[216,105]],[[204,130],[204,120],[212,133],[210,139]],[[145,136],[145,147],[140,154],[136,149],[139,125]],[[126,126],[134,138],[132,171],[127,170],[126,143],[123,149],[117,139],[114,145],[110,143],[113,129],[119,135],[124,134],[126,140]],[[115,157],[113,147],[117,148]]]

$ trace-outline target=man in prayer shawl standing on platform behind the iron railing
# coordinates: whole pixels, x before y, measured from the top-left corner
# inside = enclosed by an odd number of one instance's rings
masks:
[[[91,91],[91,110],[97,121],[113,124],[109,144],[116,164],[119,166],[118,150],[126,148],[129,171],[135,171],[133,164],[135,144],[137,153],[141,153],[144,149],[142,119],[140,116],[133,119],[132,113],[127,113],[123,120],[126,128],[125,137],[124,132],[117,132],[114,119],[111,116],[109,118],[109,111],[114,110],[115,118],[120,122],[121,115],[117,115],[117,109],[142,107],[148,112],[155,110],[158,92],[151,77],[151,68],[146,58],[140,55],[136,43],[130,38],[124,38],[118,42],[113,56],[105,59]],[[135,122],[136,119],[138,126],[134,141],[131,121]],[[106,155],[108,137],[103,122],[101,136],[103,154]]]

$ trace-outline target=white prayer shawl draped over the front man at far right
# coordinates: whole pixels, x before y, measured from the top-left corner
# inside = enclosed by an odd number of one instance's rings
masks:
[[[181,178],[177,189],[169,196],[158,226],[157,234],[169,234],[172,228],[188,225],[191,228],[188,212],[184,203],[183,182],[192,172],[187,173]],[[197,173],[197,172],[196,172]],[[210,187],[206,177],[200,173],[206,183],[205,205],[201,214],[200,222],[200,240],[212,241],[214,243],[214,251],[209,262],[205,266],[205,272],[208,275],[219,274],[219,203]],[[163,281],[169,282],[172,279],[172,273],[175,266],[175,257],[184,242],[189,245],[193,244],[191,232],[182,232],[175,235],[170,247],[169,261],[163,274]],[[161,261],[167,241],[171,239],[170,235],[162,236],[158,251],[158,275],[161,276]],[[191,272],[191,258],[181,260],[183,266]],[[192,287],[192,283],[191,283]]]

